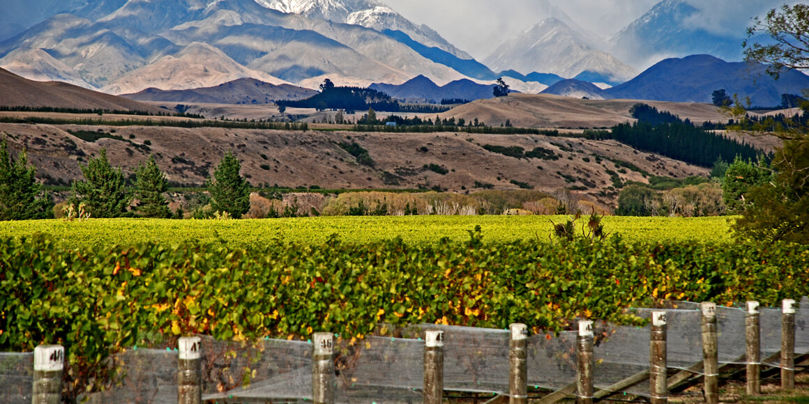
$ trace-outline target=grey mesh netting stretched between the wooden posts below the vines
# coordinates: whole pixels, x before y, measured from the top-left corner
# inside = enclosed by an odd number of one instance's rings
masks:
[[[639,317],[667,312],[668,367],[689,369],[702,361],[701,312],[698,304],[669,302],[664,309],[636,309]],[[717,307],[720,365],[743,365],[745,310]],[[424,331],[444,331],[444,390],[468,393],[508,393],[508,330],[421,324],[379,332],[335,349],[336,402],[421,402]],[[649,369],[650,326],[595,323],[595,387],[607,389]],[[779,367],[781,309],[760,309],[763,365]],[[576,375],[576,333],[536,333],[528,339],[528,385],[555,391],[570,386]],[[203,401],[311,401],[312,344],[264,339],[253,343],[202,339]],[[809,299],[795,314],[795,352],[809,353]],[[177,351],[130,348],[113,357],[116,377],[91,402],[177,402]],[[0,402],[31,402],[32,353],[0,353]],[[621,389],[648,396],[648,381]]]

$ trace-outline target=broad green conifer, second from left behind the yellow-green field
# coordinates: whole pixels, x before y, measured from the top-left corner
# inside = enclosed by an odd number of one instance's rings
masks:
[[[92,217],[121,217],[126,213],[132,194],[127,189],[121,167],[113,169],[107,160],[107,149],[98,158],[89,158],[81,166],[84,179],[73,183],[68,202],[84,203]]]

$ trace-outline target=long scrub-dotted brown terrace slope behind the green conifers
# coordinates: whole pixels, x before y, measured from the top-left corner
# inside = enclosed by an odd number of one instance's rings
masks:
[[[107,133],[83,141],[76,131]],[[484,187],[538,191],[575,187],[580,196],[614,207],[621,181],[647,182],[647,175],[684,178],[708,170],[663,156],[642,153],[617,141],[591,141],[539,135],[467,133],[355,133],[155,126],[0,124],[11,149],[28,147],[37,175],[49,183],[81,178],[79,165],[106,147],[114,166],[132,173],[155,154],[172,183],[204,183],[228,150],[242,160],[242,174],[253,184],[347,189],[439,187],[469,192]],[[357,142],[374,161],[363,166],[339,146]],[[549,158],[512,158],[486,145],[544,149]],[[631,163],[633,169],[622,169]],[[442,174],[428,168],[443,166]],[[59,181],[61,179],[61,181]]]

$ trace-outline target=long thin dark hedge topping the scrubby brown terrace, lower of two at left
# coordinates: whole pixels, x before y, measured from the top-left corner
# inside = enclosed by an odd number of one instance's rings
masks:
[[[76,124],[93,126],[166,126],[172,128],[230,128],[230,129],[275,129],[275,130],[309,130],[307,123],[267,122],[256,120],[102,120],[102,119],[66,119],[44,118],[41,116],[0,116],[4,124]]]

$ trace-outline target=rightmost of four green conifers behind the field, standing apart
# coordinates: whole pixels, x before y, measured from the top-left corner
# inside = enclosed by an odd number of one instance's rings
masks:
[[[208,179],[206,185],[214,199],[211,202],[214,212],[227,212],[239,219],[250,210],[250,185],[239,175],[241,169],[239,159],[227,152],[214,170],[214,177]]]

